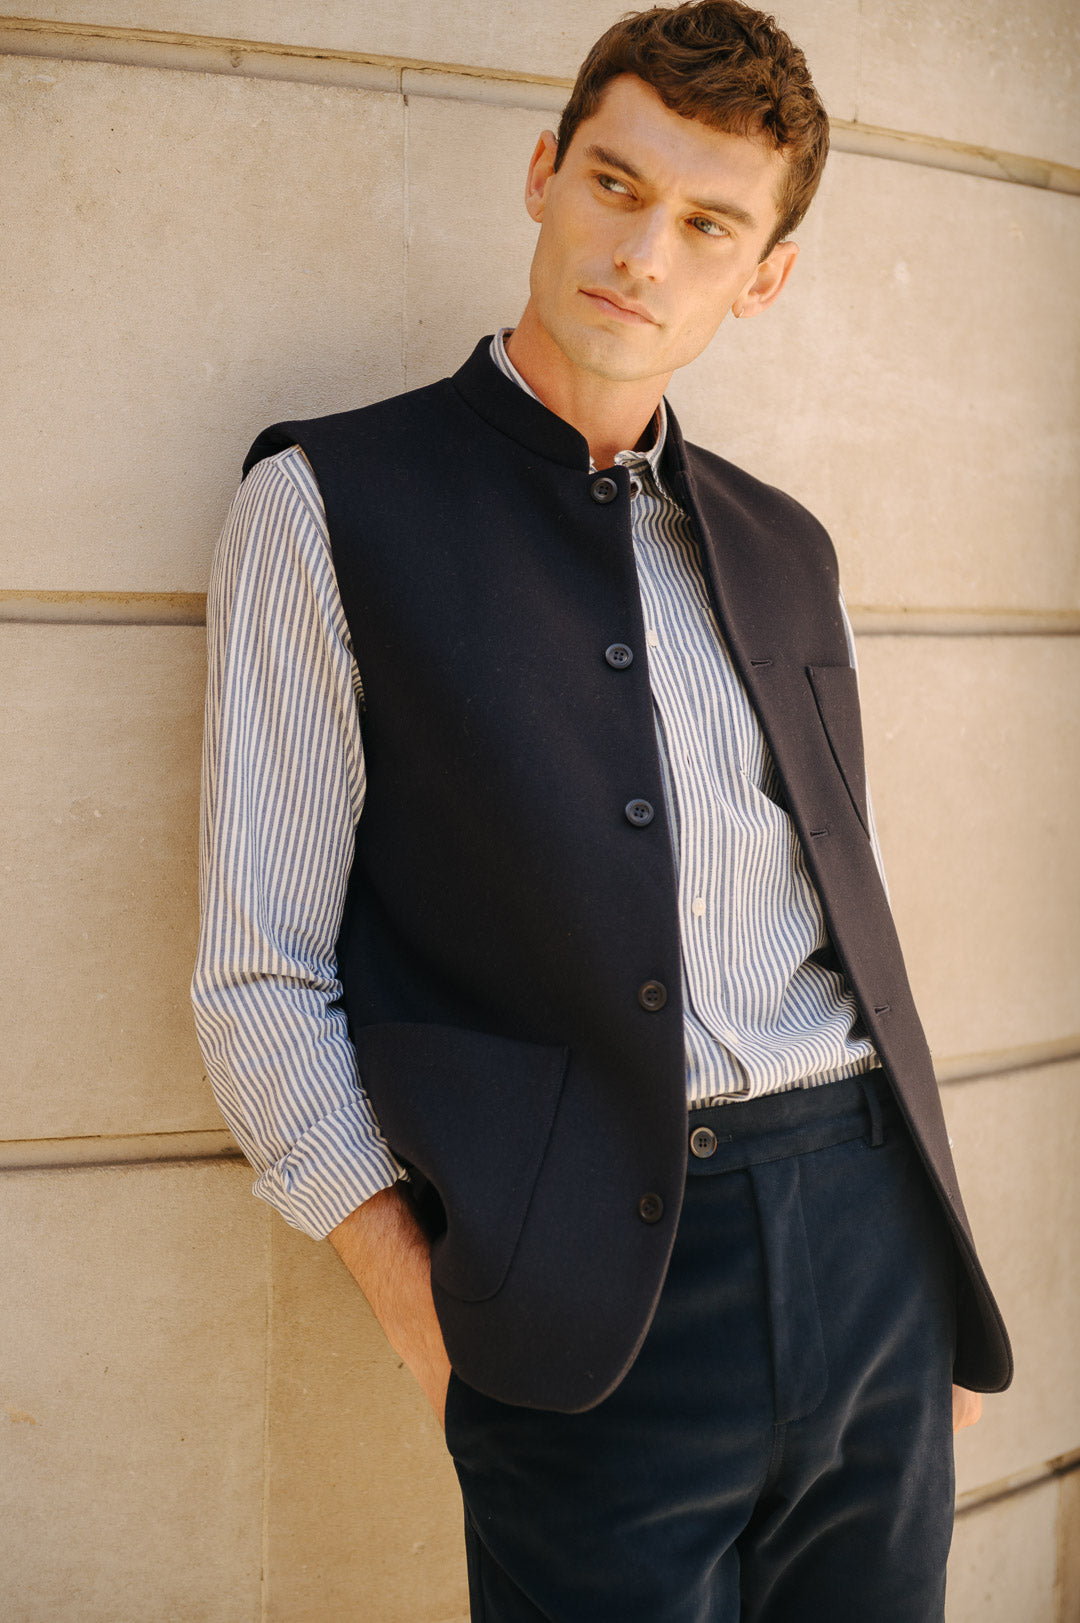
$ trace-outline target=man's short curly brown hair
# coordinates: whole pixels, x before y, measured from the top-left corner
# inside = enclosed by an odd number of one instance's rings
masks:
[[[559,122],[555,169],[607,84],[633,73],[672,112],[765,138],[786,159],[780,219],[763,256],[799,224],[828,157],[828,114],[806,57],[776,19],[739,0],[630,11],[596,41]]]

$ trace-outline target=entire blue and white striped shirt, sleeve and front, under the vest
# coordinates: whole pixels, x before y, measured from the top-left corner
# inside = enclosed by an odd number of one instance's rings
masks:
[[[528,390],[503,333],[492,359]],[[854,1076],[877,1057],[843,977],[817,956],[828,945],[822,909],[690,519],[663,487],[664,435],[661,403],[651,450],[616,461],[633,480],[693,1107]],[[237,493],[214,558],[208,654],[198,1039],[258,1170],[255,1193],[322,1237],[401,1167],[338,1003],[335,946],[365,789],[361,677],[322,497],[297,446],[258,463]]]

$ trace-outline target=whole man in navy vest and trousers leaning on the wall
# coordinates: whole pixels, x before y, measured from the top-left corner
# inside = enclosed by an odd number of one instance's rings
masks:
[[[261,435],[216,563],[206,1063],[448,1397],[486,1623],[940,1620],[950,1370],[1010,1373],[832,547],[663,401],[825,151],[760,13],[616,24],[518,326]]]

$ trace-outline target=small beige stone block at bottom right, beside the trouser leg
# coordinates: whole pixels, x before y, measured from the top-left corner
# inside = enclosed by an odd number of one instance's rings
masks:
[[[1054,1607],[1054,1513],[1049,1482],[957,1521],[945,1623],[1069,1623]]]

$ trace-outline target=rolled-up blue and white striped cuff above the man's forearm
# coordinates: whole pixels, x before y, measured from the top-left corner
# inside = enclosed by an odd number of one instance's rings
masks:
[[[292,1229],[325,1240],[331,1229],[404,1177],[361,1094],[315,1121],[287,1156],[258,1175],[253,1193]]]

